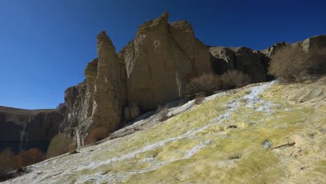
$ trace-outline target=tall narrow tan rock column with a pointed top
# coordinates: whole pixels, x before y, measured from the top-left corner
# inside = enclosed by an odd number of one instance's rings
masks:
[[[98,38],[98,76],[94,85],[93,127],[117,130],[123,116],[120,62],[116,48],[102,31]]]

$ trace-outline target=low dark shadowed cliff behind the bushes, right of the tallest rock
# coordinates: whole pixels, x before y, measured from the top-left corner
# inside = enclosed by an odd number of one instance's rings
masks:
[[[265,82],[273,79],[267,75],[267,68],[270,59],[278,49],[286,45],[301,47],[304,52],[311,49],[326,47],[326,35],[313,36],[306,40],[288,44],[285,42],[276,43],[265,50],[253,50],[247,47],[209,47],[211,54],[212,70],[222,74],[227,70],[240,70],[253,79],[253,82]]]

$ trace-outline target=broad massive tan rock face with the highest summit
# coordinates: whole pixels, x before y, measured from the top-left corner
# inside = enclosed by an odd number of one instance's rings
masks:
[[[127,71],[127,100],[141,110],[177,100],[189,78],[211,72],[206,46],[187,21],[168,23],[168,13],[139,26],[137,36],[119,56]]]

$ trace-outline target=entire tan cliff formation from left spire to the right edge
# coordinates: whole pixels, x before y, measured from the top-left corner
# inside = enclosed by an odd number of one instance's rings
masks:
[[[263,51],[247,47],[212,47],[194,36],[185,20],[168,22],[169,13],[141,24],[136,37],[116,53],[107,34],[98,36],[98,58],[86,66],[86,79],[65,91],[61,109],[61,132],[81,137],[96,127],[114,132],[126,121],[178,100],[185,95],[189,79],[207,72],[222,74],[240,70],[253,82],[272,79],[267,75],[271,56],[286,43]],[[296,43],[303,49],[326,45],[325,36]]]

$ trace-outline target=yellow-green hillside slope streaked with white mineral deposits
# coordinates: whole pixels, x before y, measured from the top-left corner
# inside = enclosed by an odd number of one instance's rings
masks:
[[[325,89],[326,77],[192,100],[4,183],[326,183]]]

